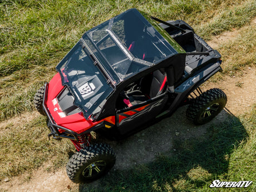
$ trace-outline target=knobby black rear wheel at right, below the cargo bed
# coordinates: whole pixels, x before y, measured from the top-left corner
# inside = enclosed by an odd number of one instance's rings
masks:
[[[227,95],[219,88],[203,92],[189,105],[186,116],[196,125],[212,120],[227,104]]]

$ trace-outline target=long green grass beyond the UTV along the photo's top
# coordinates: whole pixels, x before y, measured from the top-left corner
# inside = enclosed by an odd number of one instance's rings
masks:
[[[36,87],[51,79],[83,32],[133,7],[164,20],[184,19],[208,39],[256,14],[252,0],[2,1],[0,121],[33,109]]]

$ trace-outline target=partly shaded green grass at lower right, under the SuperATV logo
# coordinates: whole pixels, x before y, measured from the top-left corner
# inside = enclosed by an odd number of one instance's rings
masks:
[[[230,115],[211,125],[204,136],[174,140],[174,155],[160,154],[148,164],[116,170],[95,185],[81,184],[79,191],[237,191],[213,188],[212,181],[253,181],[240,191],[255,191],[256,107],[246,116]],[[173,154],[173,151],[170,151]],[[139,155],[139,154],[138,154]],[[118,182],[117,182],[118,181]],[[72,191],[77,191],[74,188]]]

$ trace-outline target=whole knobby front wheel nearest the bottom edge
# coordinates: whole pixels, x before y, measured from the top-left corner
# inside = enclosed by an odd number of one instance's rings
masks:
[[[66,166],[67,175],[74,183],[88,183],[106,174],[115,161],[115,152],[109,145],[90,145],[71,156]]]

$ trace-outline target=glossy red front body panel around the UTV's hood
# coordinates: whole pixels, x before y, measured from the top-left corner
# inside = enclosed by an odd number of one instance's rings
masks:
[[[63,90],[63,88],[64,86],[62,86],[62,83],[61,83],[61,76],[59,73],[57,73],[49,82],[47,100],[46,100],[46,106],[50,111],[50,114],[52,115],[52,118],[57,125],[66,127],[67,129],[77,132],[77,134],[81,134],[81,132],[90,129],[91,127],[99,124],[104,120],[109,121],[111,124],[115,125],[115,116],[110,116],[97,122],[86,120],[82,112],[65,116],[61,111],[61,108],[58,105],[58,102],[54,102],[54,100],[56,99],[58,94]]]

